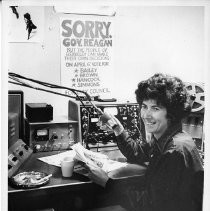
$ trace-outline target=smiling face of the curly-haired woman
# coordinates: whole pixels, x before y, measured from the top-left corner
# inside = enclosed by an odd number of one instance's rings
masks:
[[[141,106],[141,118],[145,124],[145,130],[153,133],[155,138],[160,138],[168,128],[167,110],[157,105],[156,100],[144,100]]]

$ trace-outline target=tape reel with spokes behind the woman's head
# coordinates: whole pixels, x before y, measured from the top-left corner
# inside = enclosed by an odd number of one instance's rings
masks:
[[[204,109],[204,86],[196,83],[185,83],[190,95],[195,96],[192,104],[192,112],[198,112]]]

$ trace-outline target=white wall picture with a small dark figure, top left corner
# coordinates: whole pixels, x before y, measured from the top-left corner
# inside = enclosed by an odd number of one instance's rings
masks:
[[[42,42],[44,7],[9,6],[8,42]]]

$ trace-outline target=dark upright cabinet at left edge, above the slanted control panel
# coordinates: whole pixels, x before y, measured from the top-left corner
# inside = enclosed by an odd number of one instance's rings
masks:
[[[8,142],[14,137],[24,140],[24,94],[21,90],[9,90],[8,92]],[[15,126],[14,126],[15,124]],[[18,131],[17,131],[18,130]],[[15,134],[13,134],[15,132]],[[9,143],[11,145],[12,143]]]

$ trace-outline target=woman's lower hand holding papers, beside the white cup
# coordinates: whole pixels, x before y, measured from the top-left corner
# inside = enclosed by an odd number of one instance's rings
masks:
[[[105,187],[109,179],[107,173],[96,165],[85,164],[85,168],[89,171],[88,177],[96,184]]]

